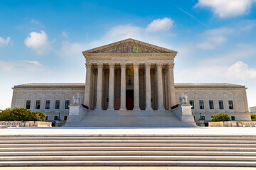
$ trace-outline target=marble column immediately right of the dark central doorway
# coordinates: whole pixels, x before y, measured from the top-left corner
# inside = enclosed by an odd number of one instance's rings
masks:
[[[134,111],[139,111],[139,64],[134,66]]]

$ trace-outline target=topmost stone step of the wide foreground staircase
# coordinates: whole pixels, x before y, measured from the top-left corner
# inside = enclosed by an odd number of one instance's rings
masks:
[[[0,137],[1,140],[256,140],[256,137]]]

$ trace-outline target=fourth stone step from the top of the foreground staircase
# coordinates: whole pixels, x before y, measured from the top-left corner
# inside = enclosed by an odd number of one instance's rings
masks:
[[[1,152],[17,151],[237,151],[256,152],[255,147],[1,147]]]

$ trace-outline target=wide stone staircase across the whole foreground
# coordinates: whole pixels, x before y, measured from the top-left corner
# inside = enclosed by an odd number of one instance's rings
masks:
[[[256,166],[256,135],[0,135],[0,166]]]

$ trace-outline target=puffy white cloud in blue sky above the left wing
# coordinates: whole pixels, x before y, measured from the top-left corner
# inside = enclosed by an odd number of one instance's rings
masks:
[[[24,40],[25,45],[36,51],[38,55],[45,55],[50,50],[48,42],[48,35],[41,30],[41,33],[31,32],[29,36]]]

